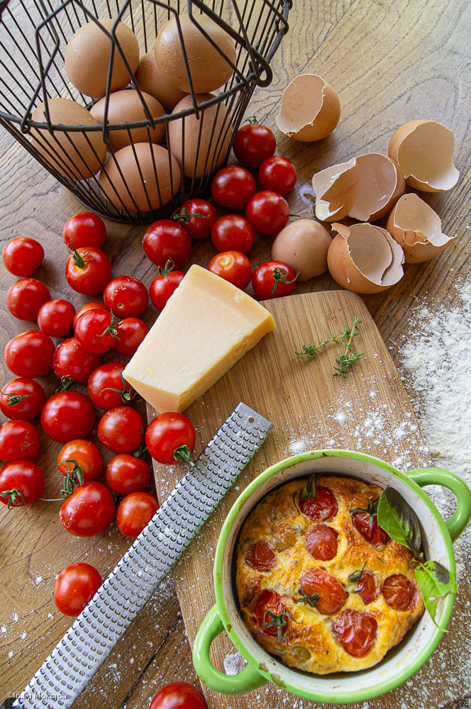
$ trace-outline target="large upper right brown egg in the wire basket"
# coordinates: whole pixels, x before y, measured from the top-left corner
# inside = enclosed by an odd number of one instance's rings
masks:
[[[223,28],[207,15],[196,15],[194,20],[211,37],[223,55],[235,65],[237,57],[233,39]],[[201,33],[188,15],[179,15],[180,26],[187,52],[189,71],[192,76],[195,94],[207,94],[226,84],[233,74],[227,60],[219,54],[213,45]],[[178,34],[177,20],[174,16],[165,23],[155,40],[155,60],[167,78],[177,89],[189,93],[189,82],[183,60],[182,45]]]

